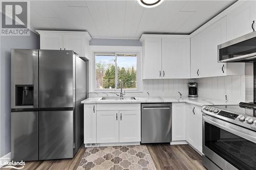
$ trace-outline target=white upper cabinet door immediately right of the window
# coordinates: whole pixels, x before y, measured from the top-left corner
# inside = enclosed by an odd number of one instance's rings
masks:
[[[146,38],[143,43],[143,79],[161,79],[161,38]]]

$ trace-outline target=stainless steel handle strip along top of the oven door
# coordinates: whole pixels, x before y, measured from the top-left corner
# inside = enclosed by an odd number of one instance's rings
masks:
[[[207,122],[211,125],[214,125],[218,128],[221,128],[225,131],[228,131],[234,135],[245,138],[253,143],[256,142],[256,132],[254,132],[254,131],[250,131],[248,129],[242,128],[237,125],[230,124],[228,122],[225,122],[224,120],[221,120],[221,119],[218,119],[215,117],[211,117],[208,115],[203,115],[203,121]]]

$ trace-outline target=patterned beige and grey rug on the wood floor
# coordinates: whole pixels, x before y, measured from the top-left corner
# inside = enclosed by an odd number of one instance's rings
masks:
[[[156,166],[147,147],[135,145],[87,148],[77,167],[77,170],[83,169],[155,170]]]

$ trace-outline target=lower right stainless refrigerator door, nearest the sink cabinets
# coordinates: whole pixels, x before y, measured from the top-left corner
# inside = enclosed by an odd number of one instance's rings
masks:
[[[39,112],[39,160],[73,158],[73,111]]]

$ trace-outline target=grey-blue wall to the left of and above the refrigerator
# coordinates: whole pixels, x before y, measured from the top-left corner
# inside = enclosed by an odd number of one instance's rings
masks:
[[[1,17],[1,16],[0,16]],[[11,48],[39,49],[39,36],[1,36],[0,51],[0,157],[10,152]]]

